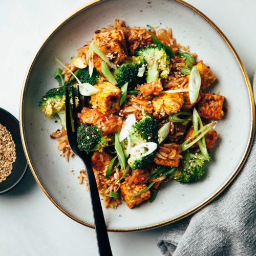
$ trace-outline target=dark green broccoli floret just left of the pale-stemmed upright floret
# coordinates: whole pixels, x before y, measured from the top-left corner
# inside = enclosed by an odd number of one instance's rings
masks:
[[[145,82],[145,73],[142,77],[137,76],[139,68],[146,64],[144,59],[137,57],[127,58],[122,65],[114,72],[114,77],[118,83],[118,87],[128,82],[129,89],[134,89],[137,84]]]

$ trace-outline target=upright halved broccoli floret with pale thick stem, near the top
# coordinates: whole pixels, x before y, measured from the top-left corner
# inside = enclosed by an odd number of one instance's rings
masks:
[[[159,76],[165,78],[169,74],[170,58],[162,46],[148,45],[139,49],[135,54],[147,62],[146,82],[156,82]]]

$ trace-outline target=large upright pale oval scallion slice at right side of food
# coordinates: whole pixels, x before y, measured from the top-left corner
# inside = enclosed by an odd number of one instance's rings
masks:
[[[201,88],[201,76],[196,66],[191,69],[188,81],[188,94],[190,103],[193,104],[197,101]]]

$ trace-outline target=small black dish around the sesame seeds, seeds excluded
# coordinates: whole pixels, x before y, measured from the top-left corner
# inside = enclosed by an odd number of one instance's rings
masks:
[[[12,139],[16,145],[16,161],[13,163],[11,175],[0,183],[0,195],[14,188],[24,177],[28,162],[25,157],[22,145],[22,139],[19,131],[19,121],[9,112],[0,108],[0,124],[6,126],[11,133]]]

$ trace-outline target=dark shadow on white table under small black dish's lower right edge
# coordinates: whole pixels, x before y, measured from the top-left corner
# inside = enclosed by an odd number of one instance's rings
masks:
[[[34,176],[28,167],[27,172],[23,179],[10,191],[3,194],[2,197],[17,197],[17,196],[24,196],[28,193],[31,193],[33,189],[36,188],[36,181]]]

